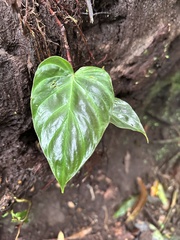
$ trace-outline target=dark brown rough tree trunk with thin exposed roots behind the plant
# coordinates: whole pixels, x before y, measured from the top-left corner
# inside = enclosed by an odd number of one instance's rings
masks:
[[[0,0],[1,212],[14,196],[51,176],[29,107],[33,75],[43,59],[70,59],[70,53],[75,69],[104,66],[115,93],[131,94],[136,105],[157,79],[180,65],[178,0],[94,2],[91,24],[85,1]]]

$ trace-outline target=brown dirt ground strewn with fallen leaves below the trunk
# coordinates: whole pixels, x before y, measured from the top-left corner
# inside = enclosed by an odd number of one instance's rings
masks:
[[[157,82],[148,101],[136,109],[150,143],[139,134],[110,125],[96,152],[62,195],[56,181],[38,182],[27,193],[32,201],[29,221],[19,240],[53,240],[63,232],[65,239],[151,240],[180,239],[180,74]],[[118,206],[139,194],[137,177],[148,191],[145,206],[131,223],[113,214]],[[150,188],[159,180],[169,201],[164,209]],[[34,194],[36,188],[37,194]],[[176,194],[175,194],[176,193]],[[33,197],[31,197],[33,195]],[[22,211],[23,204],[14,206]],[[155,238],[148,224],[165,224],[163,238]],[[13,240],[17,228],[10,215],[0,220],[0,239]],[[63,239],[63,238],[59,238]]]

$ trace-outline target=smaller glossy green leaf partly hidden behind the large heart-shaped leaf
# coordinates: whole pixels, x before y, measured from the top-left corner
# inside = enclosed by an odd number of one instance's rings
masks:
[[[149,142],[139,117],[127,102],[115,98],[110,122],[116,127],[142,133],[146,137],[147,142]]]

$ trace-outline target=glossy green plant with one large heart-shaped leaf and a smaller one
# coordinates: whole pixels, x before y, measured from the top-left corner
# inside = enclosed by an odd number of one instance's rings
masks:
[[[74,73],[71,64],[58,56],[37,68],[31,111],[40,146],[62,192],[92,155],[109,123],[147,138],[133,109],[115,98],[104,69],[82,67]]]

